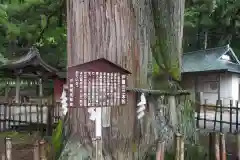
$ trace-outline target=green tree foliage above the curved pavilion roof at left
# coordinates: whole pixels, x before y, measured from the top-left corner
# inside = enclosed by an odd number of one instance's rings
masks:
[[[37,46],[44,60],[56,68],[66,65],[64,0],[1,1],[0,53],[7,58]]]

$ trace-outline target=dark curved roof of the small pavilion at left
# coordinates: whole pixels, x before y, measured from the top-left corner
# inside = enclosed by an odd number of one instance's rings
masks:
[[[7,60],[0,66],[0,71],[7,76],[35,75],[39,77],[55,77],[58,70],[51,67],[40,57],[37,48],[30,48],[29,52],[16,59]]]

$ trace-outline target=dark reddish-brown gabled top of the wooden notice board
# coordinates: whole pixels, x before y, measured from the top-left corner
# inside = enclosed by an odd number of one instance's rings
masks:
[[[99,58],[83,64],[72,66],[69,68],[76,68],[79,70],[88,70],[88,71],[95,71],[95,72],[120,72],[122,74],[131,74],[131,72],[129,72],[128,70],[124,69],[123,67],[105,58]]]

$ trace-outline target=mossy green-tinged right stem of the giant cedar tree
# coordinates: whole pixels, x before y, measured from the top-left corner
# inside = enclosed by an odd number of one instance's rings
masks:
[[[163,74],[181,79],[185,0],[152,0],[155,38],[153,56]]]

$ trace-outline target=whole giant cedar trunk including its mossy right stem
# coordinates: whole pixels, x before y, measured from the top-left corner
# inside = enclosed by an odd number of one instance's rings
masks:
[[[184,0],[67,2],[68,67],[104,57],[132,73],[129,88],[147,88],[153,51],[161,69],[180,79]],[[110,132],[103,131],[108,133],[103,135],[104,155],[116,160],[141,159],[159,138],[152,124],[154,108],[150,104],[143,120],[136,120],[136,96],[129,93],[128,105],[111,110]],[[86,130],[82,112],[79,108],[69,110],[71,137],[62,159],[94,159],[91,137],[82,134]]]

